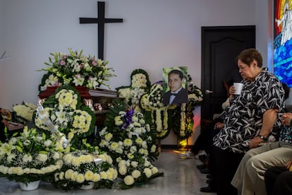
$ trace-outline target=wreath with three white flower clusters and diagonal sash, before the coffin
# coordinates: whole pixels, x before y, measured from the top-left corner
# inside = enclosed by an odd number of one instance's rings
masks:
[[[80,138],[89,136],[94,131],[95,113],[90,107],[83,105],[78,91],[70,85],[57,88],[55,94],[42,103],[42,107],[54,127],[75,148],[78,148],[76,144]],[[51,131],[38,112],[34,119],[39,129]]]

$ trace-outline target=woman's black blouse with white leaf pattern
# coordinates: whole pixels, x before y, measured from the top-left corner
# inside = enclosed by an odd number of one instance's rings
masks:
[[[243,80],[241,95],[235,95],[224,119],[224,128],[214,137],[214,146],[234,153],[248,150],[250,139],[257,136],[262,127],[266,110],[278,108],[284,112],[284,89],[274,74],[262,69],[253,83]],[[278,117],[274,126],[281,126]]]

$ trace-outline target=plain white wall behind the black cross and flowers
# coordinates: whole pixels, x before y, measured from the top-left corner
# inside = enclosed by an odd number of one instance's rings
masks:
[[[112,89],[130,84],[134,69],[145,69],[154,83],[162,68],[188,66],[195,85],[201,80],[201,27],[260,25],[257,47],[267,60],[267,2],[272,0],[105,0],[107,18],[123,23],[105,27],[104,59],[116,71]],[[0,107],[37,102],[50,52],[83,49],[97,55],[96,0],[0,0]],[[200,109],[197,109],[200,114]]]

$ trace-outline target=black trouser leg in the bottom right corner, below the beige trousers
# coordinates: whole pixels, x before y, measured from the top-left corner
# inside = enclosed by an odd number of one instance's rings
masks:
[[[267,195],[291,195],[292,172],[286,167],[272,167],[264,173]]]

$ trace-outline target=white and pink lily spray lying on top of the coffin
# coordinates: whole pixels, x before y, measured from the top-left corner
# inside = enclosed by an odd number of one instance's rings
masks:
[[[95,56],[86,57],[83,50],[73,52],[68,48],[69,54],[61,52],[51,53],[49,63],[45,62],[47,68],[39,71],[47,71],[39,84],[39,92],[49,86],[73,85],[85,86],[90,89],[99,88],[105,85],[109,78],[116,76],[111,71],[114,69],[107,67],[109,61],[95,59]]]

